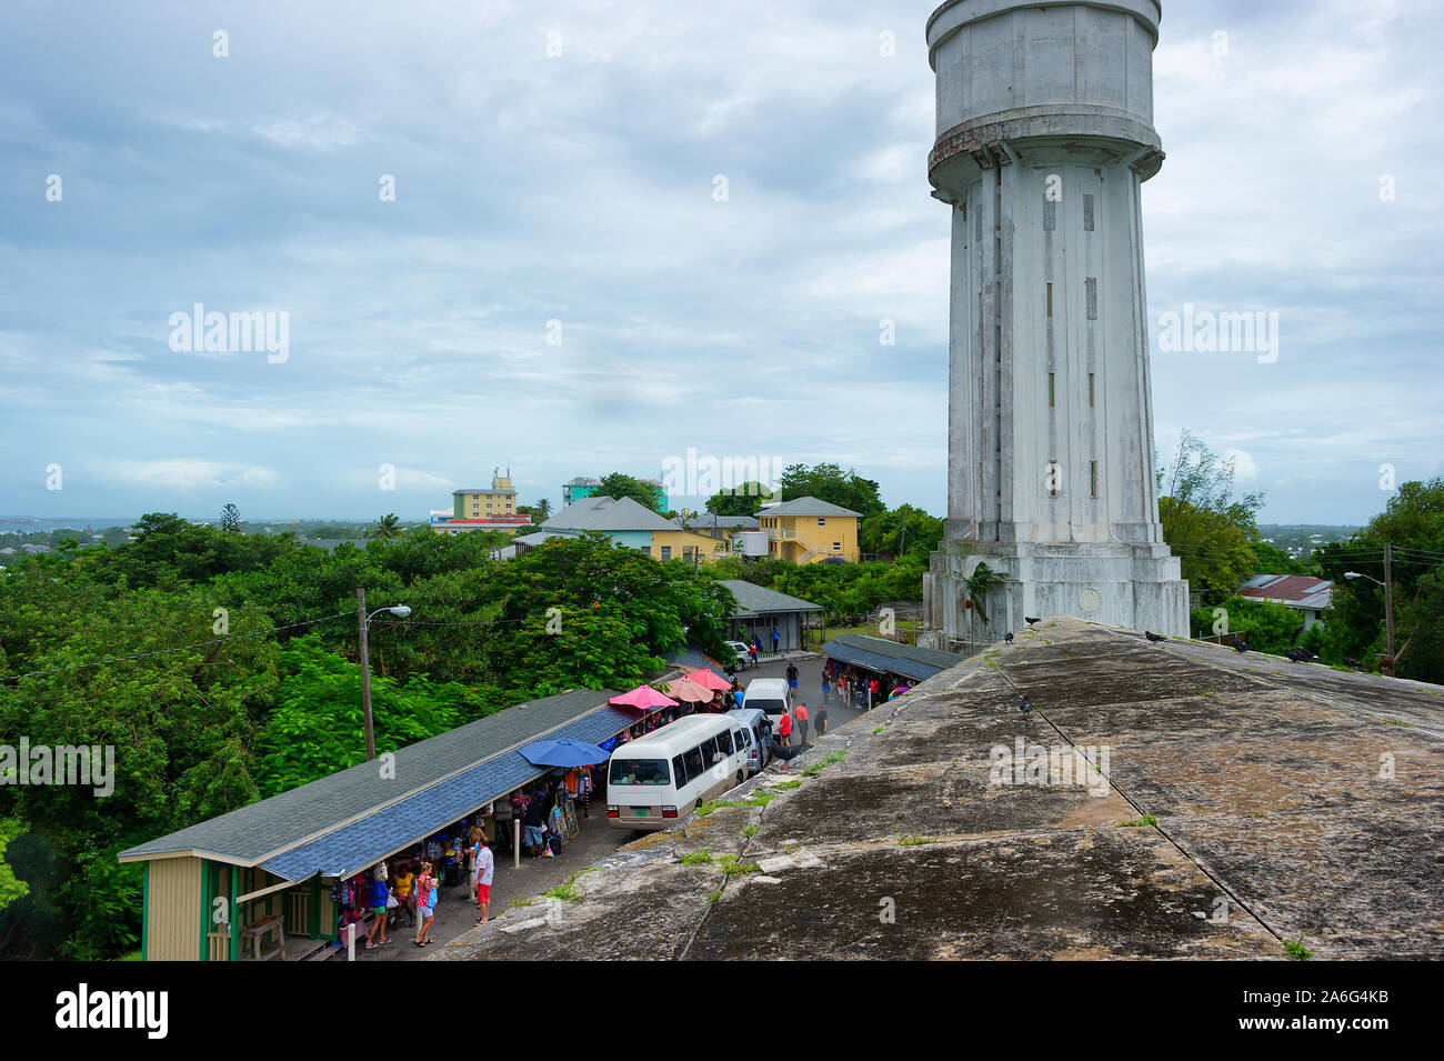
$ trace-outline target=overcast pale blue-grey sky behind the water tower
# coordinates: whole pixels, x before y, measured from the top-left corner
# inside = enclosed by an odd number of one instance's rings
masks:
[[[425,518],[689,447],[941,514],[931,7],[6,4],[0,515]],[[1157,445],[1233,452],[1265,521],[1444,473],[1441,27],[1164,4],[1154,331],[1276,312],[1279,349],[1155,339]],[[172,349],[196,303],[286,313],[284,359]]]

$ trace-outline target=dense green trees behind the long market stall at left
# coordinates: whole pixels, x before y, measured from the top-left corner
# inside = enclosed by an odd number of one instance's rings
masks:
[[[0,956],[137,946],[140,868],[116,852],[364,756],[357,589],[377,751],[521,700],[630,687],[732,601],[689,564],[598,537],[494,562],[501,534],[417,528],[334,551],[169,514],[111,550],[0,573],[0,745],[113,746],[114,791],[0,787]],[[22,888],[26,885],[26,888]]]

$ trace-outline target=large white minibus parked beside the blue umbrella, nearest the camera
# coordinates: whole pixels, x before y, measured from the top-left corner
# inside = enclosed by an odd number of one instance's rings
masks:
[[[621,745],[606,768],[606,818],[666,829],[747,781],[747,736],[726,715],[692,715]]]

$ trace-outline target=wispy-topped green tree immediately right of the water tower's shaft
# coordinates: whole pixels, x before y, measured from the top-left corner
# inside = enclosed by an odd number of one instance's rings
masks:
[[[1233,497],[1233,459],[1209,450],[1187,430],[1171,469],[1158,469],[1158,518],[1164,541],[1190,588],[1217,603],[1258,572],[1255,514],[1264,494]]]

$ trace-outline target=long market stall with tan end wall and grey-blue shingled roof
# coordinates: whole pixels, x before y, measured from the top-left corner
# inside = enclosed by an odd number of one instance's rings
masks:
[[[240,957],[240,931],[212,924],[217,899],[235,928],[284,918],[289,938],[335,937],[331,879],[351,876],[540,778],[520,748],[542,736],[599,743],[637,720],[615,690],[575,690],[516,704],[319,781],[120,853],[143,862],[142,956]]]

